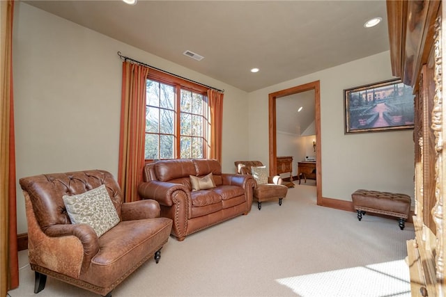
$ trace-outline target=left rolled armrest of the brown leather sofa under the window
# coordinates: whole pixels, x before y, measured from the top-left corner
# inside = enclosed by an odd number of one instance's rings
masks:
[[[183,184],[153,180],[151,182],[143,182],[138,186],[138,194],[141,198],[156,200],[166,207],[171,207],[174,204],[172,194],[175,191],[183,191],[190,196],[189,189]]]

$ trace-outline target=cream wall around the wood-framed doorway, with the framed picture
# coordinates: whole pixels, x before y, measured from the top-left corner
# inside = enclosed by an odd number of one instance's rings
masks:
[[[344,134],[343,90],[386,79],[389,51],[249,93],[249,158],[268,160],[268,94],[320,80],[323,197],[351,200],[366,188],[413,198],[412,130]]]

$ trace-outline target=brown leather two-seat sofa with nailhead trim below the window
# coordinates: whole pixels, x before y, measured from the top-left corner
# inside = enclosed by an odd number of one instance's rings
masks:
[[[192,191],[190,175],[212,173],[215,188]],[[213,159],[173,159],[148,163],[138,193],[160,203],[161,216],[174,220],[171,234],[178,241],[185,236],[247,214],[252,205],[254,179],[249,175],[222,173]]]

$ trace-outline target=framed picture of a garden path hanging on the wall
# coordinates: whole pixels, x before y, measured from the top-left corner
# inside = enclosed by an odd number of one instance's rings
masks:
[[[344,90],[345,133],[413,129],[412,92],[401,79]]]

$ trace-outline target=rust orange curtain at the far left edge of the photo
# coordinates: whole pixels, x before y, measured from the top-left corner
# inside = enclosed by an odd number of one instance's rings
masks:
[[[0,1],[0,295],[19,286],[13,104],[14,1]]]

